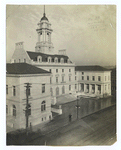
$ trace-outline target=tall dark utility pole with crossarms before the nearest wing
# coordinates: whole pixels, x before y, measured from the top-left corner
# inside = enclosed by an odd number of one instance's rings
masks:
[[[30,87],[31,87],[31,84],[30,83],[25,83],[25,87],[26,87],[26,109],[25,109],[25,116],[26,116],[26,134],[28,135],[28,122],[29,122],[29,115],[30,115],[30,112],[29,112],[29,107],[30,107],[30,104],[29,104],[29,96],[30,96]]]

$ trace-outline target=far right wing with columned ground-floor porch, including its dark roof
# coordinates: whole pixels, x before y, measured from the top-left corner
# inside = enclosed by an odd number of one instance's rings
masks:
[[[76,66],[78,91],[95,96],[111,95],[111,71],[101,66]]]

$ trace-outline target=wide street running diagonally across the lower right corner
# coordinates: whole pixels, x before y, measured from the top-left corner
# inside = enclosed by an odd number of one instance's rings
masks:
[[[30,145],[112,145],[116,141],[116,106],[109,107],[56,131],[37,138]]]

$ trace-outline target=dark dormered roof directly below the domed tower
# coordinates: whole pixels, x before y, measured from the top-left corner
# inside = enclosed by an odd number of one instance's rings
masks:
[[[27,51],[27,54],[29,55],[30,59],[32,59],[33,61],[36,61],[36,58],[38,56],[42,56],[42,60],[46,61],[46,58],[51,57],[51,58],[55,58],[57,57],[58,59],[60,58],[64,58],[64,60],[68,59],[68,56],[65,55],[57,55],[57,54],[45,54],[45,53],[41,53],[41,52],[31,52],[31,51]]]

